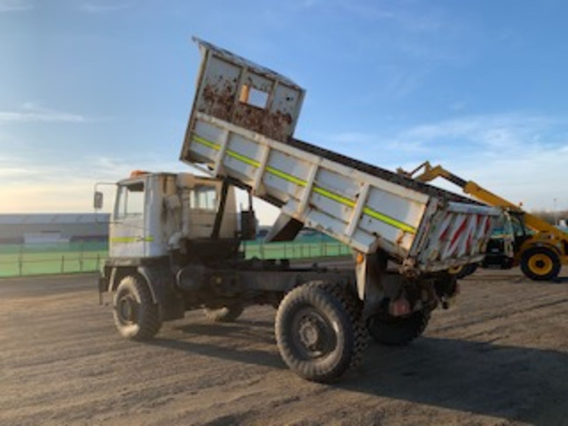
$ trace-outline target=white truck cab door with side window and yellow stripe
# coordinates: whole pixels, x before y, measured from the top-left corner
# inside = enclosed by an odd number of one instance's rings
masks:
[[[144,257],[148,242],[145,227],[144,179],[120,183],[110,225],[111,257]]]

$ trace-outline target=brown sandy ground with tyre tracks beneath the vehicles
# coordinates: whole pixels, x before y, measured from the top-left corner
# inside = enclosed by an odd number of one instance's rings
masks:
[[[424,337],[371,343],[331,386],[286,369],[270,307],[227,325],[190,312],[131,343],[95,282],[0,280],[0,424],[568,424],[568,279],[478,272]]]

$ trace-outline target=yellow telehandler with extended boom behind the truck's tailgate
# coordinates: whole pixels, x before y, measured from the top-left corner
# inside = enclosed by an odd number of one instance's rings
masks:
[[[421,172],[421,173],[420,173]],[[442,177],[461,187],[464,193],[504,212],[504,228],[511,229],[512,253],[507,252],[507,239],[490,241],[483,266],[499,263],[502,268],[520,265],[523,273],[535,281],[548,281],[558,277],[562,265],[568,264],[568,233],[524,211],[520,206],[491,193],[473,181],[466,181],[442,168],[423,162],[411,172],[398,169],[398,173],[420,182],[430,182]],[[497,248],[500,249],[497,249]],[[509,245],[510,247],[510,245]],[[492,253],[498,252],[498,253]],[[498,259],[498,262],[492,261]],[[459,272],[456,272],[459,273]]]

